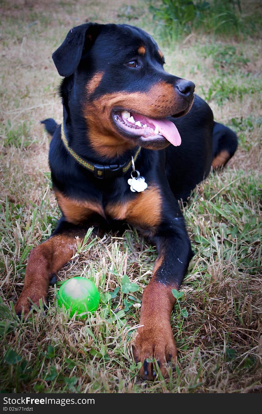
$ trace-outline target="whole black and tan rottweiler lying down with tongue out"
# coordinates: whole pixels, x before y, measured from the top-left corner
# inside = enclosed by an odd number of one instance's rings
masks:
[[[195,84],[163,69],[163,53],[145,31],[125,24],[72,28],[53,61],[60,85],[62,125],[43,121],[53,136],[49,164],[62,218],[29,256],[24,288],[15,306],[47,301],[48,285],[76,251],[87,229],[135,226],[158,250],[144,289],[133,355],[142,378],[163,375],[175,361],[172,289],[183,281],[192,249],[178,200],[211,167],[226,164],[237,137],[214,122],[194,94]]]

